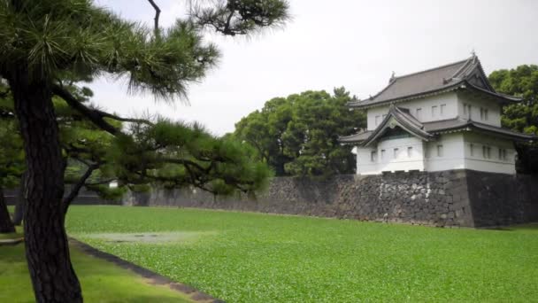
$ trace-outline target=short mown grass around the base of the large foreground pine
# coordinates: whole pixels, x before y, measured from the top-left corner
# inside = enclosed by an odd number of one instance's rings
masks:
[[[20,237],[0,235],[1,238]],[[71,248],[86,302],[191,302],[163,285],[151,285],[127,269]],[[0,302],[34,302],[24,245],[0,246]]]

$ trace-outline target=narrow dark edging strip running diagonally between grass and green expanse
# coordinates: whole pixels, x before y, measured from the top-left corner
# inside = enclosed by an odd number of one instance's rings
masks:
[[[113,255],[111,253],[105,253],[103,251],[100,251],[96,249],[93,246],[87,245],[86,243],[83,243],[73,237],[69,237],[69,242],[74,245],[75,247],[79,248],[83,253],[87,253],[91,256],[94,256],[96,258],[107,260],[111,263],[114,263],[115,265],[119,266],[120,268],[128,269],[135,274],[142,276],[146,279],[149,279],[151,284],[157,284],[157,285],[168,285],[171,289],[174,291],[179,291],[185,295],[188,296],[188,298],[194,300],[195,302],[203,302],[203,303],[224,303],[221,299],[215,299],[208,295],[207,293],[204,293],[202,291],[198,291],[195,288],[188,286],[186,284],[181,284],[174,282],[170,278],[166,276],[159,275],[158,273],[151,271],[148,268],[142,268],[134,263],[131,263],[127,260],[123,260],[119,258],[116,255]]]

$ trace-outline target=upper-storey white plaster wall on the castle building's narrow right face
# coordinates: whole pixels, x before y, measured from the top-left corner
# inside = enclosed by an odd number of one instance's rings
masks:
[[[468,119],[469,113],[465,113],[464,105],[471,105],[471,120],[501,127],[501,105],[496,103],[496,101],[477,97],[469,93],[457,93],[457,114],[461,118]],[[480,108],[488,110],[488,120],[480,119]]]

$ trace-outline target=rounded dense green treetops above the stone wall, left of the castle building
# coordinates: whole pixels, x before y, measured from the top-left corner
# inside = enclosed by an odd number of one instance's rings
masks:
[[[350,174],[355,157],[338,136],[365,127],[365,113],[346,106],[350,99],[344,88],[334,89],[333,96],[305,91],[273,98],[235,124],[233,136],[252,145],[276,175]]]

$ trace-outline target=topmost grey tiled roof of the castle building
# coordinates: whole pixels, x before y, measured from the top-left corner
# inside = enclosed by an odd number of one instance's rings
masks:
[[[367,107],[379,105],[390,101],[398,101],[411,97],[442,92],[445,90],[462,89],[462,84],[470,88],[478,88],[487,91],[499,98],[507,98],[507,101],[517,101],[519,98],[506,97],[497,94],[488,82],[488,78],[476,56],[457,61],[446,66],[439,66],[414,74],[393,77],[388,86],[378,94],[365,100],[350,102],[350,107]]]

